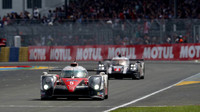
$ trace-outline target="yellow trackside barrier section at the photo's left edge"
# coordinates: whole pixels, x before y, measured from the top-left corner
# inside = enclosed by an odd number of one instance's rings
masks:
[[[0,62],[8,62],[10,55],[10,48],[9,47],[2,47],[0,52]]]

